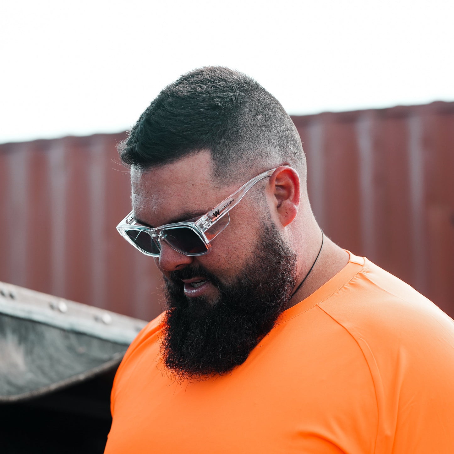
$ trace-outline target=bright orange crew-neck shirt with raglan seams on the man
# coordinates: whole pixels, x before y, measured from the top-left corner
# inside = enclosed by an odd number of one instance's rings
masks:
[[[105,453],[454,453],[454,321],[369,260],[283,312],[231,374],[177,383],[162,317],[130,345]]]

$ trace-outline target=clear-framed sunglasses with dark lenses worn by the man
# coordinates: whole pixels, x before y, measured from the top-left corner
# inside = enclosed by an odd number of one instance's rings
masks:
[[[159,257],[163,241],[175,251],[186,256],[208,254],[212,248],[211,242],[227,227],[230,221],[228,212],[241,201],[255,183],[263,178],[271,177],[275,170],[275,168],[267,170],[252,178],[201,217],[152,228],[137,225],[134,212],[131,211],[118,224],[117,230],[136,249],[151,257]]]

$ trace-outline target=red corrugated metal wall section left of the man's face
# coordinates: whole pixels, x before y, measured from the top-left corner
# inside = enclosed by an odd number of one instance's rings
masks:
[[[131,205],[122,138],[0,146],[0,281],[145,320],[159,312],[153,260],[115,230]]]

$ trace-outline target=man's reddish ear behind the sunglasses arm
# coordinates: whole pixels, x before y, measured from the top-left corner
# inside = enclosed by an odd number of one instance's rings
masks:
[[[280,166],[270,177],[270,188],[276,214],[286,227],[295,219],[300,205],[300,176],[295,169]]]

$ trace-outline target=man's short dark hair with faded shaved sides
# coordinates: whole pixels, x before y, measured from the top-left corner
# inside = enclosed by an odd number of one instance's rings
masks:
[[[118,146],[124,164],[143,169],[205,149],[221,179],[232,164],[305,163],[300,136],[277,99],[246,74],[219,66],[168,85]]]

